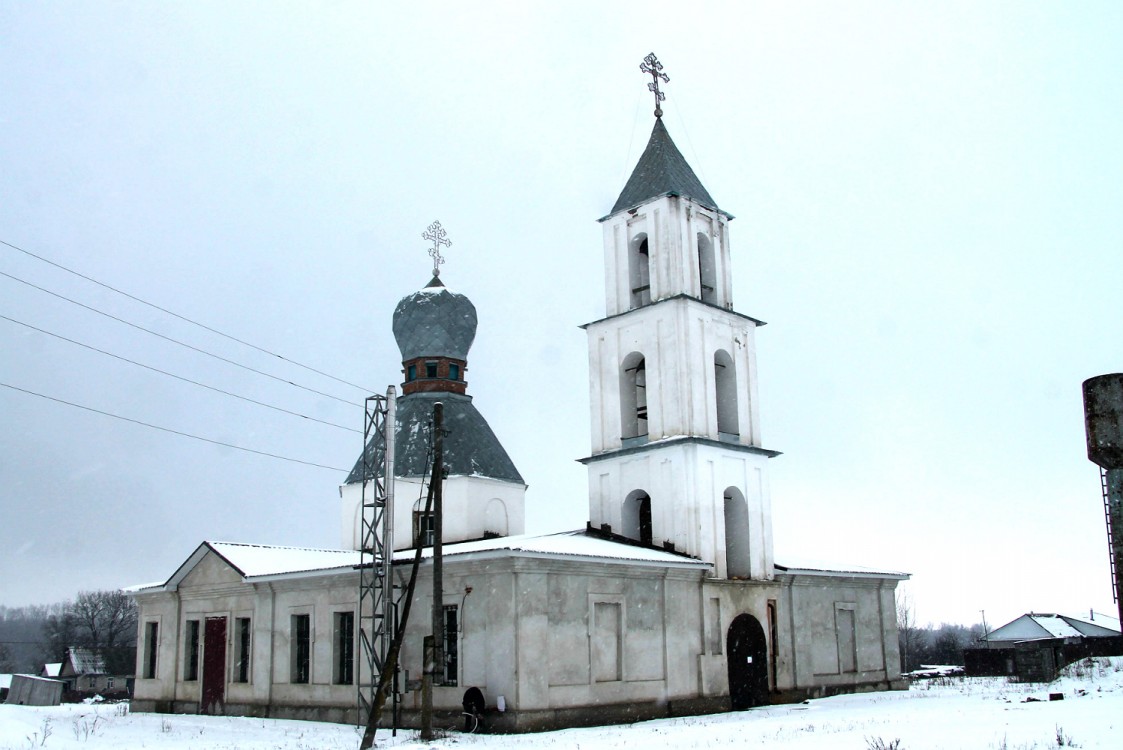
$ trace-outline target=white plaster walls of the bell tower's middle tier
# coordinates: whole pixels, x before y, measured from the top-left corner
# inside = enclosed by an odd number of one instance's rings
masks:
[[[696,300],[677,298],[591,323],[590,409],[593,455],[620,448],[621,366],[632,351],[647,369],[648,439],[690,435],[719,439],[714,353],[737,371],[738,442],[760,446],[756,324]]]

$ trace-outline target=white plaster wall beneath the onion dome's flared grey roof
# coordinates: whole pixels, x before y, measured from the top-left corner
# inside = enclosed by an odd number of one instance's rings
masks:
[[[359,484],[339,488],[340,530],[344,549],[358,549],[362,539],[363,494]],[[428,485],[420,479],[399,477],[394,481],[394,549],[413,547],[413,512],[424,510]],[[444,540],[446,543],[480,539],[490,528],[489,506],[499,501],[506,515],[502,536],[523,533],[526,528],[527,486],[481,476],[450,476],[444,487]],[[494,515],[494,513],[493,513]]]

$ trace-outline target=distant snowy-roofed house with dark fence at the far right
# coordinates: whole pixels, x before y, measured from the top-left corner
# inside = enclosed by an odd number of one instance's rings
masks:
[[[1012,676],[1049,682],[1057,673],[1089,656],[1123,655],[1120,621],[1105,614],[1030,612],[996,628],[964,651],[968,675]]]

